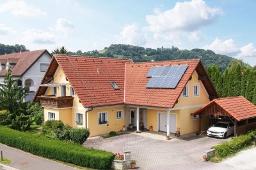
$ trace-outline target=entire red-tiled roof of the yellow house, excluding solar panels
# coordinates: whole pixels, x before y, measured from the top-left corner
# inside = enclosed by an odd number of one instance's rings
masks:
[[[188,65],[175,89],[148,89],[146,75],[152,66]],[[133,63],[127,59],[54,55],[42,83],[52,80],[60,66],[85,108],[114,104],[136,104],[173,108],[194,71],[202,78],[209,97],[218,97],[212,82],[199,59],[164,62]],[[120,90],[114,90],[115,81]],[[36,96],[45,94],[47,87],[39,87]],[[35,100],[36,98],[34,98]]]

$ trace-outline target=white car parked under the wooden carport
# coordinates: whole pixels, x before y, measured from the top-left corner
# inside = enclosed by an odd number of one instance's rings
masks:
[[[227,138],[231,134],[234,134],[234,124],[229,121],[219,121],[207,131],[207,136],[218,138]]]

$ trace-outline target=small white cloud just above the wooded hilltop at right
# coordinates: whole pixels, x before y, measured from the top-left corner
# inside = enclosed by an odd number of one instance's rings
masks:
[[[234,39],[227,39],[222,41],[216,38],[211,45],[205,45],[202,48],[205,50],[212,50],[215,53],[226,54],[226,55],[236,55],[240,52],[239,47]]]

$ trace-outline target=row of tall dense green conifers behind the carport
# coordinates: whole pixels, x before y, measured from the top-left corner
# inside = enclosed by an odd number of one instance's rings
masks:
[[[207,67],[207,72],[220,97],[244,96],[256,105],[256,67],[232,60],[224,73],[216,65]]]

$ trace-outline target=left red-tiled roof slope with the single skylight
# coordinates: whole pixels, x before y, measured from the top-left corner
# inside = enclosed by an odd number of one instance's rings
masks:
[[[54,55],[84,107],[124,104],[127,59]],[[120,90],[113,89],[115,81]]]

